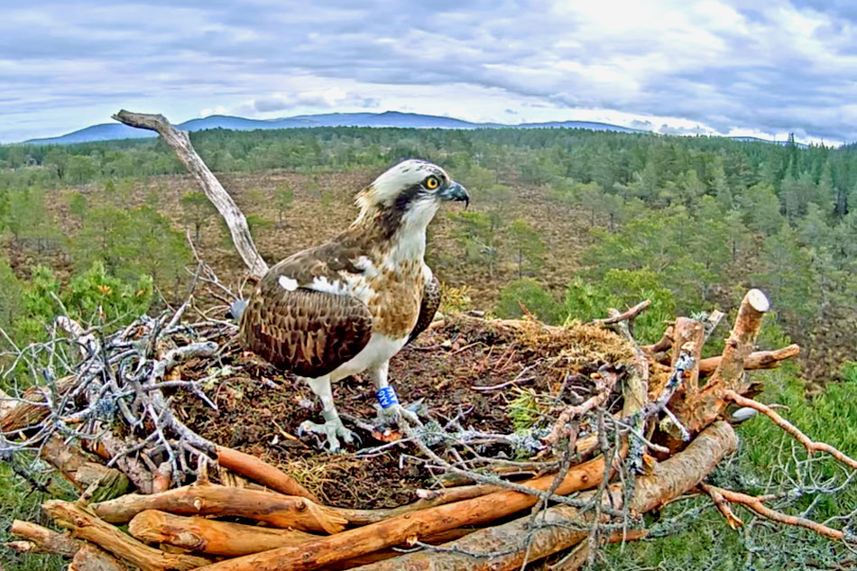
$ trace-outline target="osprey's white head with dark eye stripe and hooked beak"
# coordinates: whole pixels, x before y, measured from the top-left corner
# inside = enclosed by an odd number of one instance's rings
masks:
[[[467,190],[426,161],[402,161],[357,195],[358,222],[376,221],[388,236],[399,229],[425,230],[446,200],[470,203]]]

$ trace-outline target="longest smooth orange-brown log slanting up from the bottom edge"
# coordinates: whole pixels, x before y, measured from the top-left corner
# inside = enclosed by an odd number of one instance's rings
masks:
[[[597,485],[604,474],[604,457],[576,465],[558,485],[556,493],[585,490]],[[533,490],[548,490],[554,475],[531,480],[524,485]],[[310,571],[337,561],[391,548],[410,538],[426,537],[445,530],[486,523],[517,511],[526,510],[538,502],[528,493],[506,490],[490,493],[472,500],[447,503],[396,516],[355,530],[347,530],[327,538],[316,539],[291,548],[271,549],[254,555],[226,559],[199,571]]]

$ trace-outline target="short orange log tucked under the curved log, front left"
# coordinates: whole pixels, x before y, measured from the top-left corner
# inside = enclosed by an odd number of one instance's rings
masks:
[[[146,543],[169,543],[189,551],[226,557],[318,539],[317,535],[306,531],[263,528],[197,516],[183,517],[157,510],[141,511],[135,515],[128,524],[128,532]]]

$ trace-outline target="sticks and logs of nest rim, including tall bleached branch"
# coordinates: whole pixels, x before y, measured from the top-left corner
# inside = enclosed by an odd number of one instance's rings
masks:
[[[161,115],[121,112],[117,118],[158,131],[176,149],[226,219],[248,272],[265,272],[244,216],[188,135]],[[200,267],[204,277],[207,269]],[[180,309],[141,318],[105,338],[60,318],[81,364],[0,401],[0,445],[4,452],[34,452],[53,465],[78,499],[43,504],[66,531],[14,521],[11,532],[20,540],[7,547],[69,557],[69,568],[78,571],[502,571],[560,553],[567,554],[562,568],[573,569],[606,542],[644,539],[641,515],[688,493],[708,495],[733,526],[741,520],[731,506],[742,504],[769,520],[850,539],[842,530],[775,511],[767,498],[705,484],[737,447],[727,412],[735,405],[767,415],[807,452],[823,451],[857,467],[748,398],[758,389],[746,370],[776,366],[798,351],[754,351],[769,310],[765,295],[747,293],[723,354],[707,359],[701,358],[703,345],[719,317],[711,323],[677,318],[659,343],[638,346],[629,323],[646,305],[601,320],[627,338],[636,358],[622,371],[594,375],[593,396],[568,404],[553,419],[542,438],[542,459],[552,459],[552,469],[525,481],[467,470],[438,452],[437,439],[403,423],[403,436],[425,463],[446,469],[458,485],[420,491],[415,502],[387,510],[324,505],[290,475],[199,437],[173,414],[168,387],[207,399],[198,383],[173,371],[188,359],[217,355],[213,339],[228,336],[228,324],[182,323]],[[180,336],[182,343],[164,343]],[[622,394],[621,410],[607,406],[615,391]],[[211,474],[219,484],[209,481]]]

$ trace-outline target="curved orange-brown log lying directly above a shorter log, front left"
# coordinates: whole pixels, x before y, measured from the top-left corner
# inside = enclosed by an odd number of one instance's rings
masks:
[[[347,521],[335,510],[307,498],[217,484],[192,484],[149,495],[129,493],[110,502],[92,505],[98,517],[125,523],[144,510],[179,515],[238,516],[265,521],[278,528],[337,533]]]

